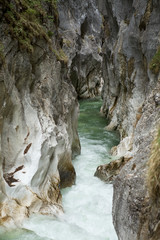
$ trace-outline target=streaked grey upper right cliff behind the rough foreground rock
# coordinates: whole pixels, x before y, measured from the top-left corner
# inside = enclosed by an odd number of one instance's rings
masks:
[[[148,66],[159,44],[160,6],[151,0],[98,3],[104,16],[103,111],[124,138],[157,81]]]

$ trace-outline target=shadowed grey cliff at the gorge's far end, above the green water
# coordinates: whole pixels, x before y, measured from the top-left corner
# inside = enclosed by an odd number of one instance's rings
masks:
[[[69,57],[69,76],[80,98],[100,94],[102,18],[95,0],[59,1],[59,32]]]

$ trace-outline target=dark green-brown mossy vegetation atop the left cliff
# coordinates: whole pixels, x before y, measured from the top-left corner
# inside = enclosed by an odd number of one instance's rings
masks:
[[[57,21],[56,0],[0,0],[4,18],[8,24],[7,33],[18,40],[19,46],[33,52],[36,38],[43,38],[49,44],[53,33],[43,26],[48,21],[47,9],[50,9],[52,19]],[[52,34],[51,34],[52,33]]]

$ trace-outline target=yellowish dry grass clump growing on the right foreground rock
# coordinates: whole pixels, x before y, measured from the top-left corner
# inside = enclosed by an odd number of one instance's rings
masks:
[[[151,156],[148,163],[147,187],[154,204],[160,206],[160,128],[152,143]]]

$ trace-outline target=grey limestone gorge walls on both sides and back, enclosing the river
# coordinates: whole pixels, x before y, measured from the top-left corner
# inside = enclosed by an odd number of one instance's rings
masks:
[[[159,1],[44,1],[38,13],[24,2],[0,0],[0,223],[62,211],[60,186],[74,183],[80,152],[77,94],[98,95],[104,79],[107,130],[120,131],[114,153],[127,159],[114,182],[118,237],[158,239],[145,174],[160,120],[159,71],[150,70]]]

